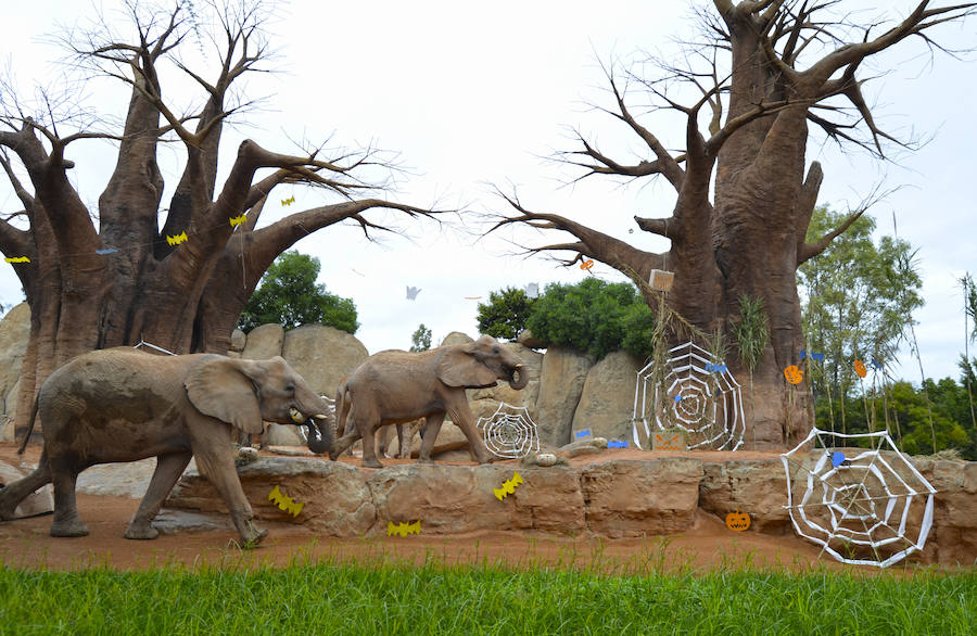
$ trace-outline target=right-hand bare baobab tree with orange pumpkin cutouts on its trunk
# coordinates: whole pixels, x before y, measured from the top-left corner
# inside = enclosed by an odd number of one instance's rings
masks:
[[[876,124],[860,67],[913,36],[941,49],[934,27],[974,11],[973,3],[929,4],[919,2],[902,20],[858,22],[839,13],[841,0],[712,0],[698,12],[701,38],[682,64],[657,62],[654,76],[647,65],[606,67],[612,105],[601,110],[626,126],[644,156],[614,158],[579,131],[579,145],[560,155],[583,170],[579,178],[664,178],[677,192],[672,215],[634,219],[640,230],[669,239],[669,251],[642,251],[558,214],[533,211],[515,193],[502,193],[510,208],[493,230],[521,224],[568,232],[570,241],[526,250],[569,251],[575,255],[560,257],[567,266],[593,258],[639,283],[652,269],[674,271],[668,307],[702,332],[728,334],[739,320],[740,298],[762,301],[770,339],[753,369],[747,448],[790,444],[812,419],[810,392],[797,391],[784,376],[804,348],[796,270],[864,212],[852,211],[837,228],[809,240],[823,179],[817,162],[805,176],[809,125],[880,158],[889,144],[909,144]],[[668,148],[648,125],[661,111],[684,123],[681,151]],[[657,307],[657,292],[639,287]],[[731,370],[743,371],[736,358],[728,360]]]

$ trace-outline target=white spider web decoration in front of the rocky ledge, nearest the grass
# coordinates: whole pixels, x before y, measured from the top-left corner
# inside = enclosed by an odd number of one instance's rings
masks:
[[[810,450],[812,440],[820,448]],[[888,568],[923,549],[936,489],[887,431],[813,429],[781,460],[790,522],[822,551],[842,563]]]

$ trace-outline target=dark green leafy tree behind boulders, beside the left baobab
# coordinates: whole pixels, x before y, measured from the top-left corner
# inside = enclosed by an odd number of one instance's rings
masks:
[[[262,277],[261,287],[241,313],[238,328],[250,331],[277,322],[288,329],[300,325],[328,325],[356,333],[356,305],[317,284],[319,259],[296,250],[281,254]]]

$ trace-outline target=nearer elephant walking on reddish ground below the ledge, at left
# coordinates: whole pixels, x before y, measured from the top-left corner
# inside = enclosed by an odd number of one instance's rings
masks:
[[[126,538],[158,535],[152,520],[190,458],[227,504],[244,545],[267,531],[252,522],[251,505],[234,468],[237,430],[261,433],[263,420],[328,421],[326,403],[281,357],[243,360],[214,354],[157,356],[129,347],[83,354],[51,373],[35,403],[27,440],[39,415],[45,448],[37,469],[0,491],[0,519],[22,499],[54,483],[52,536],[85,536],[75,481],[96,463],[156,457],[145,496]],[[306,425],[312,427],[310,423]],[[319,427],[331,446],[331,425]]]

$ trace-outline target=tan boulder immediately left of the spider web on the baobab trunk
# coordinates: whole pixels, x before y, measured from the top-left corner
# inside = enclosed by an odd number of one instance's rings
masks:
[[[613,352],[594,365],[584,381],[572,429],[589,429],[595,437],[626,440],[634,415],[634,383],[642,362],[626,352]]]

